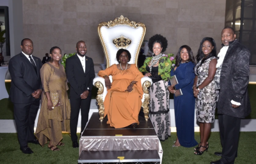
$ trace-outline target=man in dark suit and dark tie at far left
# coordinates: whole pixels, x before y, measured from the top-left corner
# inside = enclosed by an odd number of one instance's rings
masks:
[[[13,102],[20,150],[31,154],[33,151],[28,147],[28,142],[39,144],[34,135],[34,125],[42,93],[42,63],[38,57],[32,56],[33,42],[30,39],[22,40],[20,47],[22,52],[9,61],[12,77],[10,100]]]

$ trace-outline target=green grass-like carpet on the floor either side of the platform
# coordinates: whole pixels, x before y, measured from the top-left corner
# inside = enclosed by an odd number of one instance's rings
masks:
[[[236,163],[255,163],[256,153],[256,132],[241,132],[238,157]],[[197,141],[200,140],[199,133],[195,133]],[[193,154],[193,147],[172,147],[176,140],[176,133],[172,137],[161,142],[163,147],[163,164],[200,164],[210,163],[210,161],[219,160],[214,152],[221,151],[220,137],[218,132],[212,132],[209,138],[209,151],[196,156]],[[34,151],[33,154],[23,154],[19,150],[17,133],[0,133],[0,163],[77,163],[78,149],[72,148],[71,138],[68,134],[63,134],[64,146],[59,146],[60,151],[52,152],[50,149],[40,145],[29,144]]]

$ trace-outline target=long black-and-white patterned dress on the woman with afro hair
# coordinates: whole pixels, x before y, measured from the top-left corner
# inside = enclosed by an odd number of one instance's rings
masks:
[[[149,71],[148,66],[147,71]],[[158,66],[152,67],[151,75],[153,84],[150,87],[149,117],[157,137],[163,141],[171,135],[168,82],[162,80],[161,76],[158,75]]]

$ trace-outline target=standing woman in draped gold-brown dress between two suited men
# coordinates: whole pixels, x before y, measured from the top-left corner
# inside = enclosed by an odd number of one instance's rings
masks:
[[[40,145],[44,146],[49,140],[49,149],[60,151],[57,146],[64,145],[62,131],[70,133],[70,103],[65,68],[59,63],[61,49],[52,47],[50,56],[51,61],[40,70],[44,91],[35,135]]]

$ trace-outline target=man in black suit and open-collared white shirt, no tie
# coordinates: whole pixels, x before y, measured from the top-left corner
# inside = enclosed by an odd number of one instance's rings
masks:
[[[86,43],[78,41],[76,43],[76,50],[77,54],[69,57],[66,61],[66,74],[70,84],[70,132],[73,147],[79,147],[76,131],[80,108],[81,132],[88,121],[93,87],[92,81],[95,78],[93,60],[85,56],[87,52]]]

